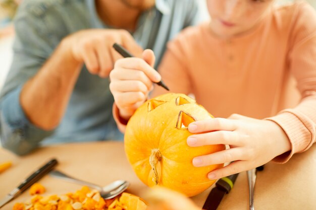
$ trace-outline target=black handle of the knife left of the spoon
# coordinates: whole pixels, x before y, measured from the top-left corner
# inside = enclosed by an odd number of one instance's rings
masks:
[[[51,169],[53,169],[57,165],[56,159],[51,159],[48,163],[42,166],[40,169],[35,171],[31,176],[26,178],[17,188],[19,189],[19,193],[25,191],[27,188],[32,186],[35,182],[37,182],[40,178],[42,178],[45,174],[47,174]]]

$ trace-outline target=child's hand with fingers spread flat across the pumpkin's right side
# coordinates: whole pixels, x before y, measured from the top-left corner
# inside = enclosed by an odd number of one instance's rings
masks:
[[[220,163],[233,163],[210,172],[209,179],[219,179],[261,166],[291,150],[290,141],[283,129],[273,121],[258,120],[233,114],[228,119],[213,118],[189,124],[190,147],[229,145],[230,149],[195,157],[193,165],[202,167]]]

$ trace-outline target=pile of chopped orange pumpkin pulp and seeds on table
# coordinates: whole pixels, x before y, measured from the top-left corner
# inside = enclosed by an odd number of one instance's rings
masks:
[[[39,195],[44,191],[42,185],[32,185],[30,194],[35,195],[31,201],[15,203],[13,210],[145,210],[147,207],[141,198],[126,192],[112,199],[103,199],[98,191],[87,186],[64,195]]]

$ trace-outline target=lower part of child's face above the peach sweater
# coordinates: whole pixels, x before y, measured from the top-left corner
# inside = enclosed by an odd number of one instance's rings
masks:
[[[230,38],[256,26],[274,0],[207,0],[212,31]]]

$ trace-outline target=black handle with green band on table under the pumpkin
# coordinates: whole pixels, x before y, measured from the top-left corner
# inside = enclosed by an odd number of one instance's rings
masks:
[[[224,195],[229,193],[234,187],[237,176],[238,173],[219,179],[215,184],[216,186],[209,192],[203,205],[203,209],[216,210],[220,205]]]

